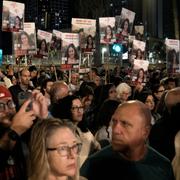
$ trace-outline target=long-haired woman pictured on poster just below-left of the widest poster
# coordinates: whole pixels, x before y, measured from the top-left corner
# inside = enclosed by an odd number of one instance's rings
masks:
[[[67,57],[67,64],[78,64],[79,56],[73,43],[67,47],[65,57]]]

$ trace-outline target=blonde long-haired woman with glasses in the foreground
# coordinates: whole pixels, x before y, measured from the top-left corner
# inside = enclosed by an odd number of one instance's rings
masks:
[[[75,180],[81,145],[71,123],[54,118],[37,122],[30,139],[29,180]]]

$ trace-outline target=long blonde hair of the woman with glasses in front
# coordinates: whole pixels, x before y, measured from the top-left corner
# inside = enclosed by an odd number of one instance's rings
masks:
[[[59,128],[69,128],[76,136],[75,127],[68,120],[48,118],[39,120],[33,127],[29,146],[29,180],[42,180],[47,178],[49,172],[47,143],[49,137]]]

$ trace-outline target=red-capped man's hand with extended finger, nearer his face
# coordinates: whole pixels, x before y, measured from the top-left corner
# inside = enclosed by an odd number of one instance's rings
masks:
[[[15,114],[12,119],[11,129],[16,131],[17,134],[21,135],[26,132],[33,124],[36,116],[34,111],[27,111],[28,105],[31,103],[31,100],[25,101],[21,106],[20,110]]]

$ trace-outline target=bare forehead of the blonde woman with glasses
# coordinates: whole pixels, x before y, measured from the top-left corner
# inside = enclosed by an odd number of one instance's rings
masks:
[[[50,137],[48,137],[47,142],[49,145],[55,146],[58,144],[71,144],[76,141],[77,139],[76,136],[73,134],[73,132],[67,127],[62,127],[56,129],[53,132],[53,134]]]

